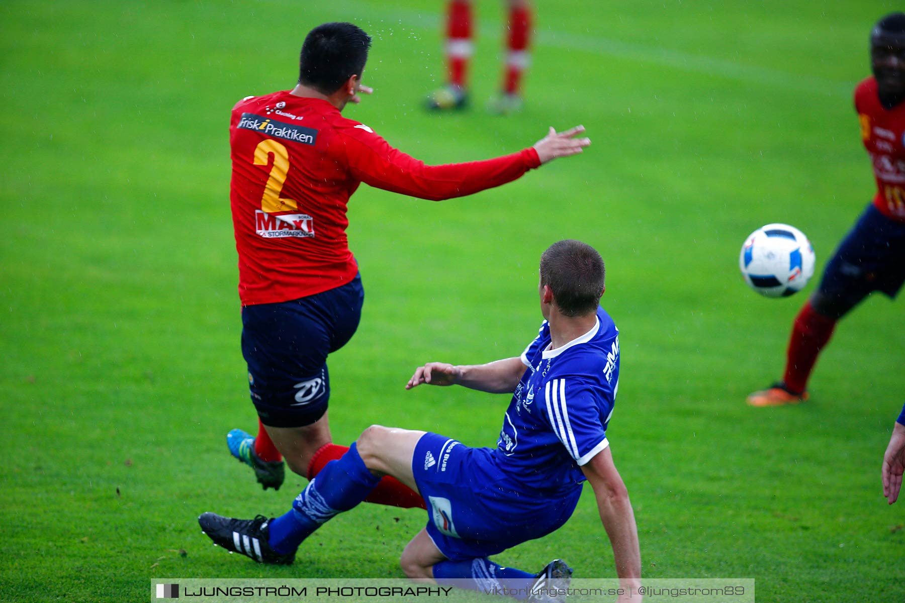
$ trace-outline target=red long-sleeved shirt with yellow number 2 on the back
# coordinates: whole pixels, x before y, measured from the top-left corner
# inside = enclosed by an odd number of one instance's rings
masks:
[[[322,99],[243,99],[230,123],[230,200],[243,306],[289,301],[355,278],[346,209],[358,184],[439,201],[515,180],[533,148],[486,161],[424,165]]]

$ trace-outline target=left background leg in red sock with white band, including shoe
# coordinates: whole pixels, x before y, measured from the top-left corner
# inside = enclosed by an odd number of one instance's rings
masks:
[[[428,97],[429,108],[462,108],[468,95],[468,61],[472,57],[472,2],[450,0],[446,15],[446,64],[449,80]]]

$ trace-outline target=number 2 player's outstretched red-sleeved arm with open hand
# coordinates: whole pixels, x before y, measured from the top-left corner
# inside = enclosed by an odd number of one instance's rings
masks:
[[[357,180],[394,193],[442,201],[479,193],[519,178],[529,169],[557,157],[581,153],[591,141],[577,137],[583,126],[557,133],[552,127],[546,137],[518,153],[460,164],[424,165],[424,162],[389,146],[369,127],[344,130],[338,149]]]

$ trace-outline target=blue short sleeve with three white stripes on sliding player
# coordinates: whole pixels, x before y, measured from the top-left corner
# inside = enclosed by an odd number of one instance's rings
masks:
[[[550,427],[578,466],[609,446],[604,426],[613,411],[611,392],[564,377],[548,381],[544,394]]]

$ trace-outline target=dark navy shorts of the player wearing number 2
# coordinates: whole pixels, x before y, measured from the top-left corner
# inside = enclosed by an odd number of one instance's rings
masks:
[[[242,355],[264,425],[301,427],[324,415],[330,397],[327,355],[355,334],[364,301],[356,275],[313,296],[242,308]]]

